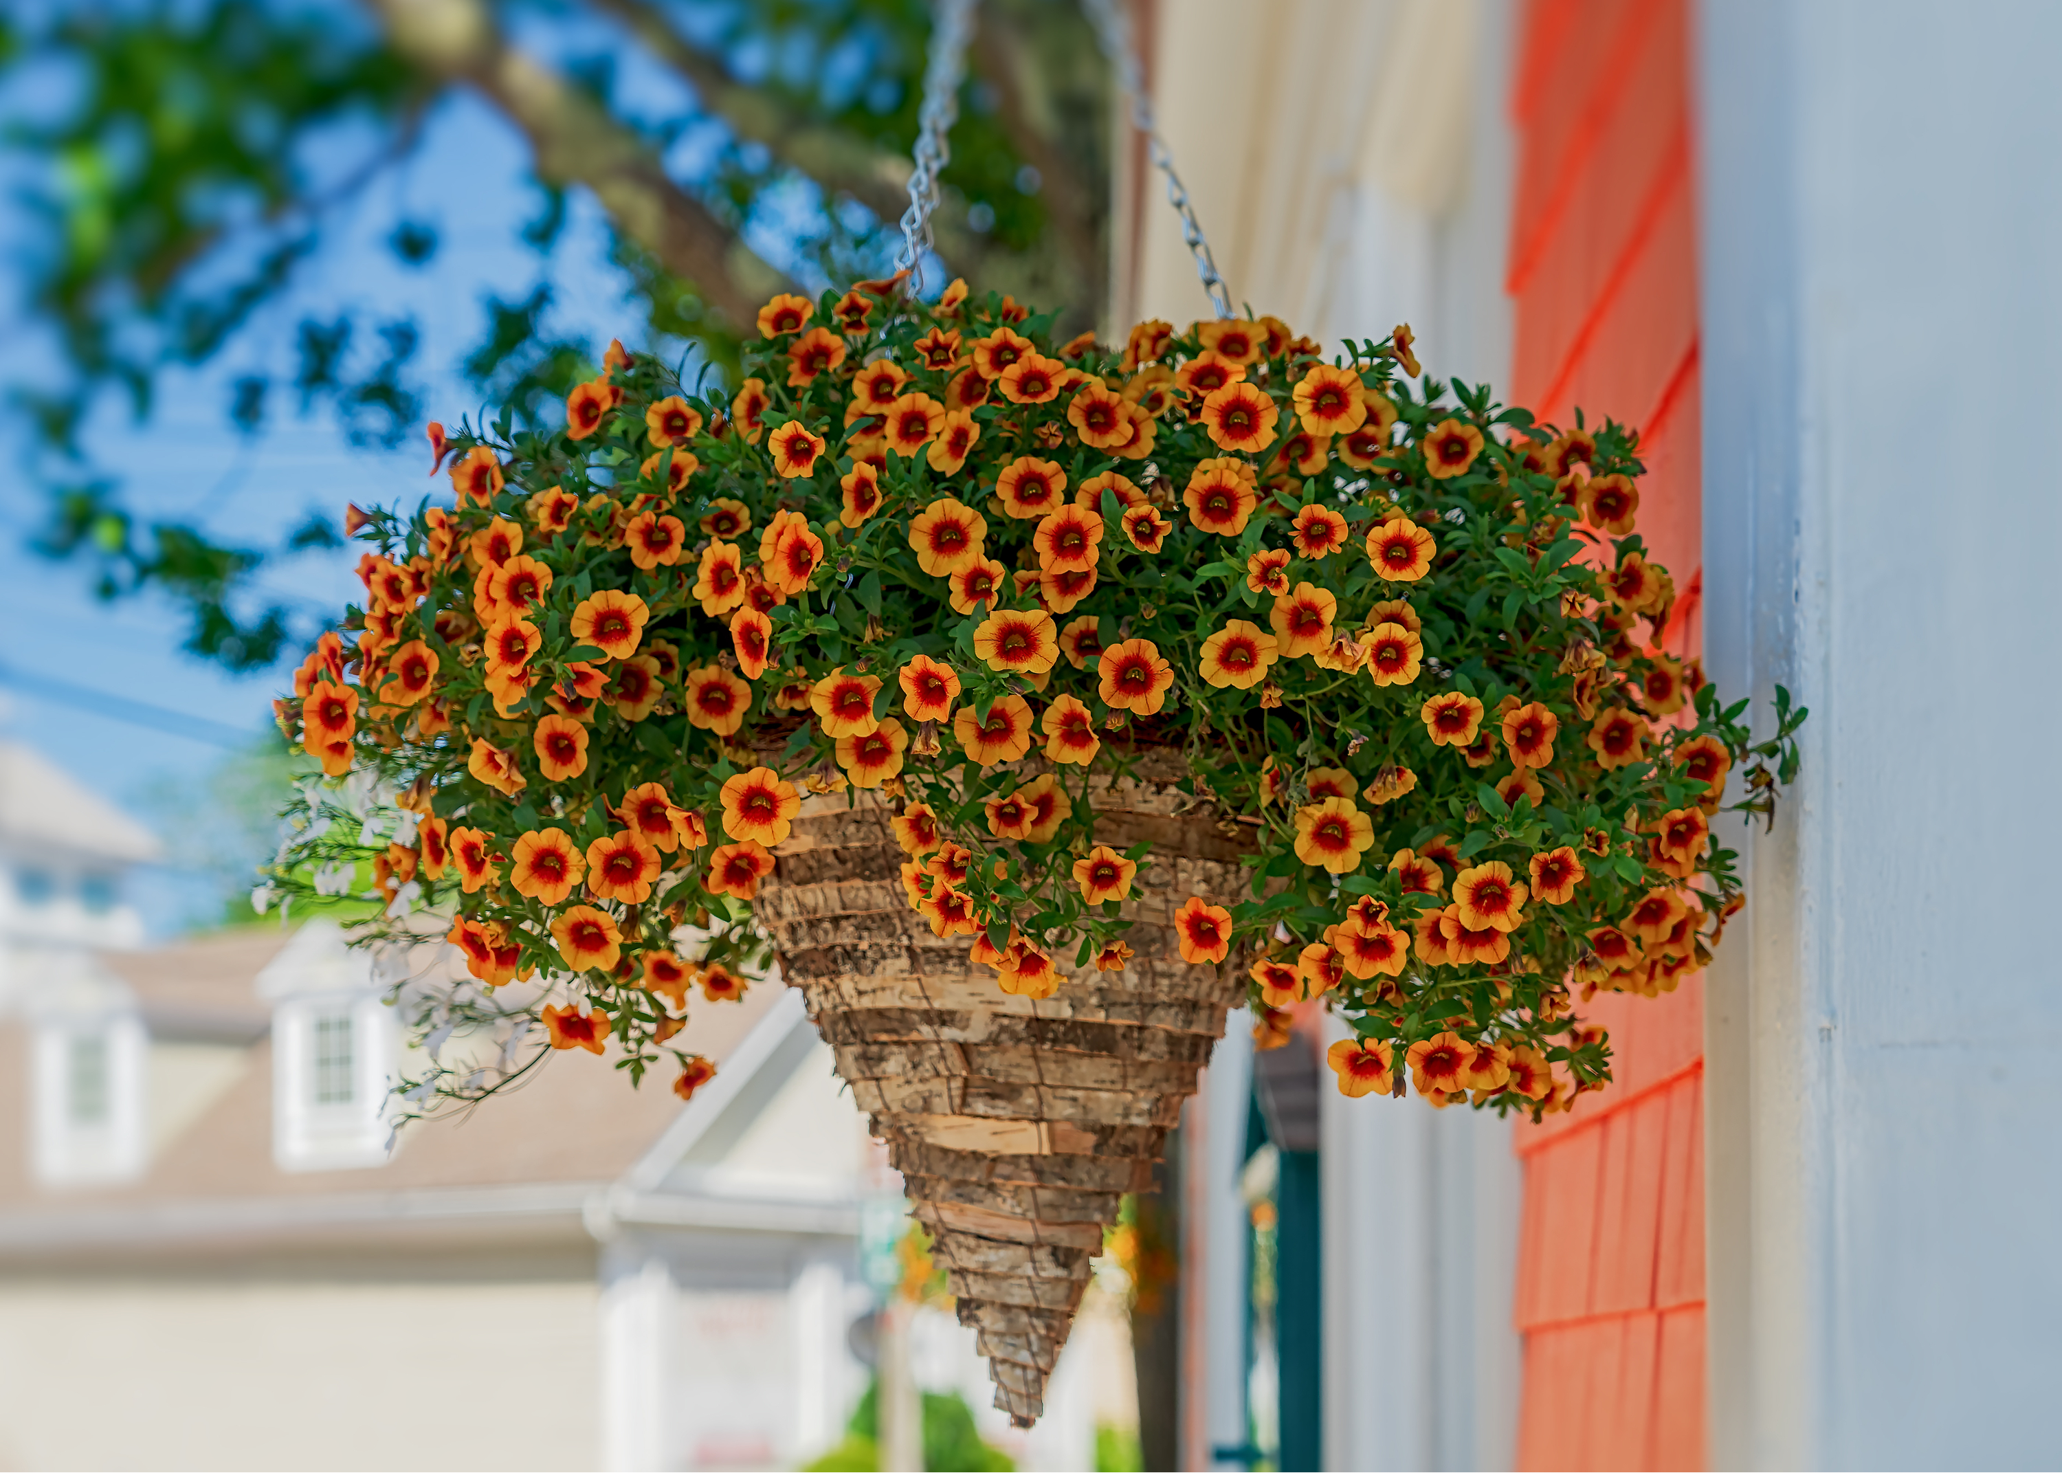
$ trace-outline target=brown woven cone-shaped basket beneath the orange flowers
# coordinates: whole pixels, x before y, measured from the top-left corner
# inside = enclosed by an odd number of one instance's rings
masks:
[[[759,891],[784,974],[889,1143],[1019,1426],[1043,1409],[1103,1228],[1124,1192],[1151,1186],[1243,990],[1233,965],[1188,965],[1175,947],[1182,902],[1227,904],[1245,875],[1241,840],[1212,813],[1177,815],[1194,805],[1177,772],[1149,753],[1132,778],[1091,788],[1099,844],[1153,844],[1124,908],[1136,955],[1124,972],[1070,972],[1043,1001],[1002,992],[967,959],[971,937],[940,941],[909,910],[872,794],[808,798]]]

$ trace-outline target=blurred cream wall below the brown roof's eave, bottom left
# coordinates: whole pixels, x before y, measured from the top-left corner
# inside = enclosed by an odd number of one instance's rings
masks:
[[[596,1287],[0,1281],[0,1467],[579,1469]]]

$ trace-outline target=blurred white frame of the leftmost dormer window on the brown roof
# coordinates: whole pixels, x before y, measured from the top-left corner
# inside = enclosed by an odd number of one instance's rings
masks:
[[[101,1112],[80,1120],[76,1071],[99,1048]],[[148,1164],[144,1093],[148,1042],[132,1011],[58,1015],[35,1027],[31,1054],[33,1166],[45,1186],[93,1186],[142,1176]]]

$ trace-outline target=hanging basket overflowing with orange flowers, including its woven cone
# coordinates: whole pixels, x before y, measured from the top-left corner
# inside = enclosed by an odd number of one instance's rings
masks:
[[[1336,1009],[1349,1095],[1561,1110],[1608,1079],[1579,1003],[1740,902],[1730,767],[1767,813],[1796,761],[1802,712],[1755,743],[1660,648],[1633,433],[1408,328],[1054,342],[864,283],[775,297],[734,394],[610,349],[563,431],[441,433],[456,501],[357,520],[365,607],[280,703],[332,782],[274,885],[369,866],[367,930],[480,984],[427,1023],[522,980],[538,1056],[683,1095],[689,990],[777,953],[1023,1419],[1227,1005]],[[346,774],[388,819],[334,821]]]

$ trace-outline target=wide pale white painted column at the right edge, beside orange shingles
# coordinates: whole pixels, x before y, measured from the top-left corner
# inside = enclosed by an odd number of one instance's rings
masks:
[[[1707,664],[1812,708],[1709,976],[1714,1465],[2052,1467],[2062,8],[1697,39]]]

